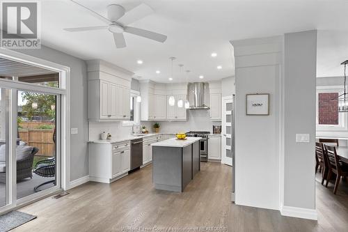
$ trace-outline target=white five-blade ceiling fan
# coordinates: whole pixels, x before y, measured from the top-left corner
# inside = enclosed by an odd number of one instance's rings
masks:
[[[117,48],[126,47],[125,37],[123,36],[124,32],[131,33],[136,36],[148,38],[150,40],[155,40],[158,42],[164,42],[167,39],[167,36],[164,36],[160,33],[147,31],[147,30],[139,29],[132,26],[125,26],[153,13],[152,8],[150,8],[150,6],[144,3],[141,3],[139,6],[136,6],[132,10],[129,10],[127,13],[125,12],[124,7],[117,4],[111,4],[107,6],[107,18],[106,18],[96,13],[95,11],[91,10],[90,8],[87,8],[86,6],[81,5],[77,1],[73,1],[73,0],[71,1],[85,8],[90,13],[92,13],[95,17],[98,17],[99,19],[103,20],[108,25],[68,28],[68,29],[64,29],[65,31],[78,32],[78,31],[94,31],[94,30],[100,30],[100,29],[108,29],[111,33],[113,33],[113,39],[115,40],[115,44]]]

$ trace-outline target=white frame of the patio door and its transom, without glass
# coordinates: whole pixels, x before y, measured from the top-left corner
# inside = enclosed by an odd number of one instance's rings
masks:
[[[38,59],[33,56],[15,52],[9,49],[0,49],[0,57],[3,59],[9,59],[12,61],[17,61],[20,63],[25,63],[33,65],[39,68],[45,68],[48,70],[53,70],[59,73],[59,83],[60,88],[52,88],[47,86],[40,86],[37,84],[31,84],[26,82],[16,82],[8,79],[0,79],[1,88],[6,88],[11,90],[10,98],[10,127],[9,127],[9,153],[7,154],[9,168],[8,177],[6,185],[6,206],[0,207],[0,214],[19,208],[25,204],[31,203],[33,201],[38,201],[48,194],[53,194],[54,192],[61,192],[63,190],[68,190],[70,186],[70,68],[68,66],[59,65],[51,61],[45,61],[43,59]],[[40,92],[45,94],[57,95],[56,101],[56,121],[58,127],[61,128],[60,132],[56,134],[58,143],[56,147],[59,148],[60,162],[57,164],[56,175],[56,186],[59,186],[58,190],[52,188],[47,189],[47,191],[42,190],[36,194],[31,194],[30,197],[24,197],[17,200],[17,172],[16,172],[16,146],[17,146],[17,91],[32,91]],[[59,100],[58,100],[59,99]],[[59,105],[59,106],[58,106]],[[60,113],[58,114],[58,108]],[[58,120],[59,119],[59,120]],[[15,146],[14,146],[15,145]],[[58,162],[57,162],[58,163]],[[59,170],[58,170],[59,169]]]

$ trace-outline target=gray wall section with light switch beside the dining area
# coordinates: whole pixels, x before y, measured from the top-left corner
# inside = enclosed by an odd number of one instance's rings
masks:
[[[285,34],[284,206],[315,209],[317,31]],[[296,143],[310,134],[310,143]]]

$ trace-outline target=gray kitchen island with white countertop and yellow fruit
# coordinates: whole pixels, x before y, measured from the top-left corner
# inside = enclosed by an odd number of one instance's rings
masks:
[[[152,182],[157,190],[183,192],[200,171],[200,137],[152,144]]]

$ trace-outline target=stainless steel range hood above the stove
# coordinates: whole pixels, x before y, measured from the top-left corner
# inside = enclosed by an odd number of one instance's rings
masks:
[[[210,109],[209,83],[193,82],[187,84],[187,100],[190,102],[189,109]]]

